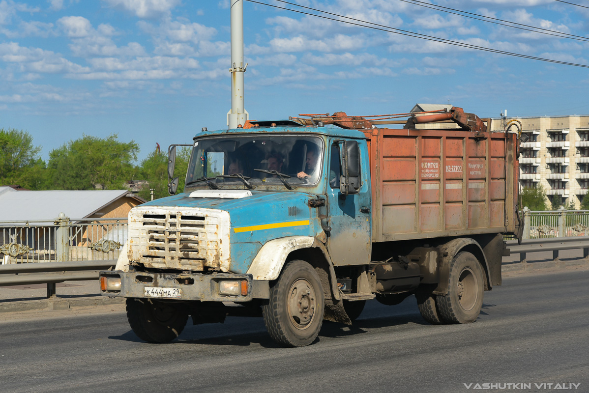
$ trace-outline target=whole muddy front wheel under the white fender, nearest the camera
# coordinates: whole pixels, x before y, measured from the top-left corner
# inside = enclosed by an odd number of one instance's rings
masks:
[[[274,341],[285,347],[305,347],[317,338],[324,310],[319,275],[307,262],[295,260],[270,284],[270,299],[262,315]]]

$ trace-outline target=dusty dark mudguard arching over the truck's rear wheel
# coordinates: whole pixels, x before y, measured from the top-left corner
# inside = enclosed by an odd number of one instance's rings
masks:
[[[452,259],[456,257],[461,251],[468,251],[475,256],[483,265],[485,271],[485,291],[491,290],[491,280],[489,279],[489,264],[487,257],[482,251],[481,245],[477,241],[471,238],[458,238],[453,239],[446,244],[439,246],[441,256],[439,258],[439,282],[438,287],[434,290],[436,295],[447,295],[448,294],[448,281],[450,278],[450,264]]]

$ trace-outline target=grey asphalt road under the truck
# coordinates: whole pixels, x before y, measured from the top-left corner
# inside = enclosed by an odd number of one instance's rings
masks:
[[[0,391],[466,392],[511,383],[520,385],[505,390],[589,392],[588,284],[588,270],[506,278],[469,325],[428,325],[413,297],[372,301],[355,327],[325,322],[306,348],[277,348],[258,318],[189,325],[176,342],[145,344],[120,311],[38,313],[0,322]]]

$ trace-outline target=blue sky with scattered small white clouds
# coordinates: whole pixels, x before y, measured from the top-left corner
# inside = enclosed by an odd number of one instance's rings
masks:
[[[267,4],[299,9],[276,0]],[[226,128],[230,0],[0,0],[0,128],[42,158],[83,134],[141,147]],[[401,0],[292,0],[349,18],[517,54],[589,65],[589,42]],[[589,8],[555,0],[423,0],[589,37]],[[589,6],[585,0],[570,0]],[[333,16],[332,16],[333,17]],[[589,114],[589,69],[459,48],[244,3],[252,119],[407,112],[448,100],[481,117]],[[349,19],[348,19],[349,20]],[[589,41],[589,39],[588,39]],[[165,148],[165,147],[164,147]]]

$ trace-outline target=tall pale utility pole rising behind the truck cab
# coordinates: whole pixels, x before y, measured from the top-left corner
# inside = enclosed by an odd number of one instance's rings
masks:
[[[243,64],[243,2],[229,0],[231,10],[231,109],[227,112],[227,125],[237,128],[244,125],[248,113],[243,101],[243,74],[247,64]]]

